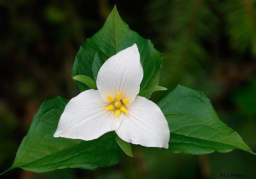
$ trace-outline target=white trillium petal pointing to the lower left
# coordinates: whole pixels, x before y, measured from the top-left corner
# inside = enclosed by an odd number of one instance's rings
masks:
[[[104,110],[98,90],[87,90],[72,98],[61,114],[54,137],[93,140],[116,130],[122,116],[115,118],[115,111]]]

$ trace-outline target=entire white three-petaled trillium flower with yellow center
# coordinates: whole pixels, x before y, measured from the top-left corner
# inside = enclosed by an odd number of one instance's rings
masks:
[[[168,148],[169,127],[160,108],[138,96],[143,68],[136,44],[101,66],[96,84],[73,97],[60,116],[54,137],[93,140],[115,131],[124,141]]]

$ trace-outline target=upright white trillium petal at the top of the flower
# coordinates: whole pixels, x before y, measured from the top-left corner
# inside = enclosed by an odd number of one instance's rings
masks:
[[[122,99],[130,98],[129,106],[140,91],[143,68],[136,44],[125,48],[110,57],[101,66],[97,76],[97,87],[101,98],[108,101],[107,95],[116,96],[121,92]]]

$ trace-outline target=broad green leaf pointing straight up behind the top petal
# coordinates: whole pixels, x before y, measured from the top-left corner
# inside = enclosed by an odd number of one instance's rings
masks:
[[[156,86],[159,83],[161,54],[150,40],[144,39],[129,29],[119,16],[116,7],[111,11],[103,27],[82,45],[76,55],[72,76],[87,75],[96,81],[102,64],[120,50],[134,43],[140,52],[140,61],[144,76],[140,90]],[[87,90],[87,85],[77,82],[80,91]]]

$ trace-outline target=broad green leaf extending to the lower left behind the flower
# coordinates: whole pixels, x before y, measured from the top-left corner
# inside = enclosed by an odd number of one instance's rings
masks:
[[[67,167],[94,169],[118,163],[119,147],[114,132],[91,141],[53,137],[67,103],[67,99],[56,97],[40,106],[10,169],[48,172]]]

